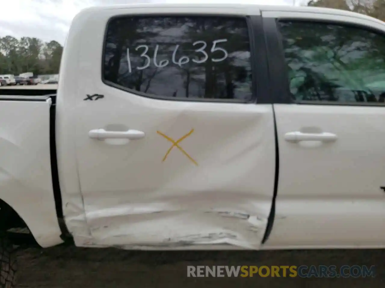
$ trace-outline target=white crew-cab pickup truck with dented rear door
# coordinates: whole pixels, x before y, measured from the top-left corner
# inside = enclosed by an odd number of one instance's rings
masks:
[[[379,20],[310,7],[87,8],[57,93],[0,91],[3,258],[23,227],[41,247],[385,247]]]

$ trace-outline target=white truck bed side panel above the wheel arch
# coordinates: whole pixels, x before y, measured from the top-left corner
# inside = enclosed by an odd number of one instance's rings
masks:
[[[0,199],[42,247],[62,243],[52,190],[50,105],[50,99],[0,101]]]

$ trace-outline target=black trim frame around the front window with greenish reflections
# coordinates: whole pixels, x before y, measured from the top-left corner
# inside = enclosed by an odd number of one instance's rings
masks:
[[[350,28],[358,28],[369,31],[371,33],[380,34],[385,37],[383,30],[362,25],[359,23],[351,23],[339,20],[328,19],[311,19],[296,17],[264,17],[264,28],[266,33],[266,42],[268,45],[268,63],[271,85],[273,89],[279,90],[272,93],[274,104],[301,104],[301,105],[332,105],[332,106],[385,106],[385,103],[378,102],[338,102],[338,101],[293,101],[290,97],[290,83],[288,70],[285,61],[285,52],[283,49],[283,36],[278,28],[278,22],[304,22],[304,23],[320,23],[328,25],[340,25]],[[276,46],[273,46],[276,45]],[[275,74],[273,74],[275,73]],[[274,75],[274,77],[273,77]],[[280,89],[282,88],[282,89]]]

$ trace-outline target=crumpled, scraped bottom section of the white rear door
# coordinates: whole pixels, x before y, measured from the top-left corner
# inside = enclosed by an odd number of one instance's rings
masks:
[[[267,223],[267,215],[256,216],[255,211],[254,215],[218,209],[156,211],[150,206],[148,212],[143,211],[143,206],[136,212],[127,206],[126,211],[119,211],[120,215],[116,210],[87,214],[94,243],[123,249],[162,250],[197,245],[257,249]],[[131,214],[128,210],[132,211]]]

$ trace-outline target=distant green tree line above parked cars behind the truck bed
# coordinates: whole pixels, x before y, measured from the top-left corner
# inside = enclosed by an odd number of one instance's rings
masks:
[[[38,38],[0,37],[0,74],[58,74],[63,46]]]

